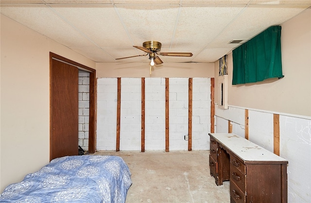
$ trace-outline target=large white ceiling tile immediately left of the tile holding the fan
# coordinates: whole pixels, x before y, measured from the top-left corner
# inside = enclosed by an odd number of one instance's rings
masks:
[[[66,20],[99,47],[131,47],[113,6],[52,6]]]

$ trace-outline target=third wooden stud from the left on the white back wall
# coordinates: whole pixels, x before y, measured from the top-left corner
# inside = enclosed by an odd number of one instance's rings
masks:
[[[170,151],[170,79],[165,78],[165,152]]]

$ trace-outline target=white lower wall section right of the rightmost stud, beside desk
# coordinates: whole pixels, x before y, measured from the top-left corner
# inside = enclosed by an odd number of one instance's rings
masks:
[[[287,168],[288,202],[311,201],[311,119],[280,115],[280,156]]]

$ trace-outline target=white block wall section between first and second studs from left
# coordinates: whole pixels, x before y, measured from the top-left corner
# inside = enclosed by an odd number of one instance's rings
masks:
[[[141,78],[121,78],[120,150],[141,149]]]

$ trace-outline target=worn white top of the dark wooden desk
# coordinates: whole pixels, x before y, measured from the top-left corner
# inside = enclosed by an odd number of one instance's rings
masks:
[[[239,156],[244,163],[252,161],[284,162],[288,161],[276,154],[260,147],[259,145],[246,140],[233,133],[208,133],[218,143],[229,149],[236,156]]]

